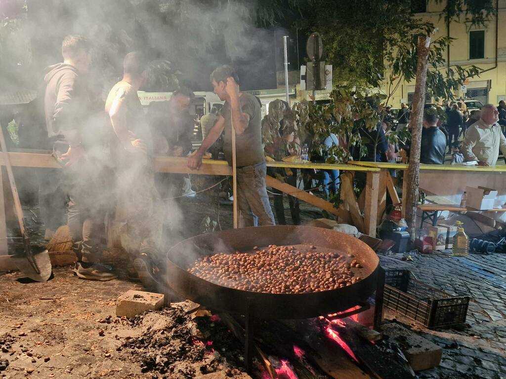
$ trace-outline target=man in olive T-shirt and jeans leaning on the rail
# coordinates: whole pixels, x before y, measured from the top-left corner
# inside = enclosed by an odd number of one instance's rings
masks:
[[[239,226],[274,225],[274,215],[265,184],[267,167],[262,148],[262,112],[260,102],[250,94],[239,92],[239,77],[230,66],[220,66],[210,76],[214,91],[225,101],[221,115],[202,146],[189,158],[188,167],[198,169],[205,151],[225,129],[223,151],[232,164],[232,124],[236,133],[237,201]]]

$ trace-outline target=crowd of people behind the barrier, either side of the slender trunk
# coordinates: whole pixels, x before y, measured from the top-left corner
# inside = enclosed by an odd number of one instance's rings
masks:
[[[464,102],[446,102],[443,105],[446,117],[439,116],[436,108],[430,104],[424,110],[421,137],[420,163],[444,164],[446,156],[451,155],[455,163],[476,162],[480,166],[495,165],[499,153],[506,152],[506,104],[500,101],[496,107],[486,104],[482,109],[466,109]],[[365,160],[376,162],[394,162],[402,149],[409,155],[410,143],[402,141],[398,146],[388,145],[385,134],[395,120],[396,127],[407,127],[410,110],[405,104],[397,115],[387,107],[387,116],[383,120],[383,130],[378,127],[379,138],[376,156],[366,156]],[[366,131],[364,131],[366,133]],[[374,145],[368,147],[371,150]]]

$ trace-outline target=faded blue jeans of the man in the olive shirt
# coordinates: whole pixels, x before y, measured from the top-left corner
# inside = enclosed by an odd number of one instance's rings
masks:
[[[265,176],[265,162],[237,168],[237,201],[239,227],[275,225]]]

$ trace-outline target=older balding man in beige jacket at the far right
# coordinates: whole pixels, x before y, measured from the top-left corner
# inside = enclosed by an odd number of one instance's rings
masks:
[[[483,106],[481,118],[468,128],[462,143],[466,162],[477,161],[480,166],[495,166],[499,150],[506,155],[506,137],[497,121],[497,108],[493,104]]]

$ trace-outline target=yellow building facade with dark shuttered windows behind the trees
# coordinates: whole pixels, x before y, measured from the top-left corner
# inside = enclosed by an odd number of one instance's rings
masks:
[[[452,21],[447,25],[443,14],[444,2],[436,4],[434,0],[412,0],[415,16],[437,27],[433,40],[446,35],[454,38],[449,46],[450,66],[475,65],[480,68],[479,77],[468,78],[454,93],[457,98],[472,98],[482,104],[506,100],[506,38],[503,38],[506,34],[506,0],[493,1],[493,5],[498,7],[497,17],[491,16],[485,26],[471,26],[464,15],[460,16],[459,22]],[[444,57],[448,57],[448,51]],[[389,104],[394,108],[398,108],[400,103],[410,104],[414,87],[414,80],[401,83]],[[382,86],[382,90],[386,92],[387,86]],[[427,102],[434,102],[434,99],[428,98]]]

